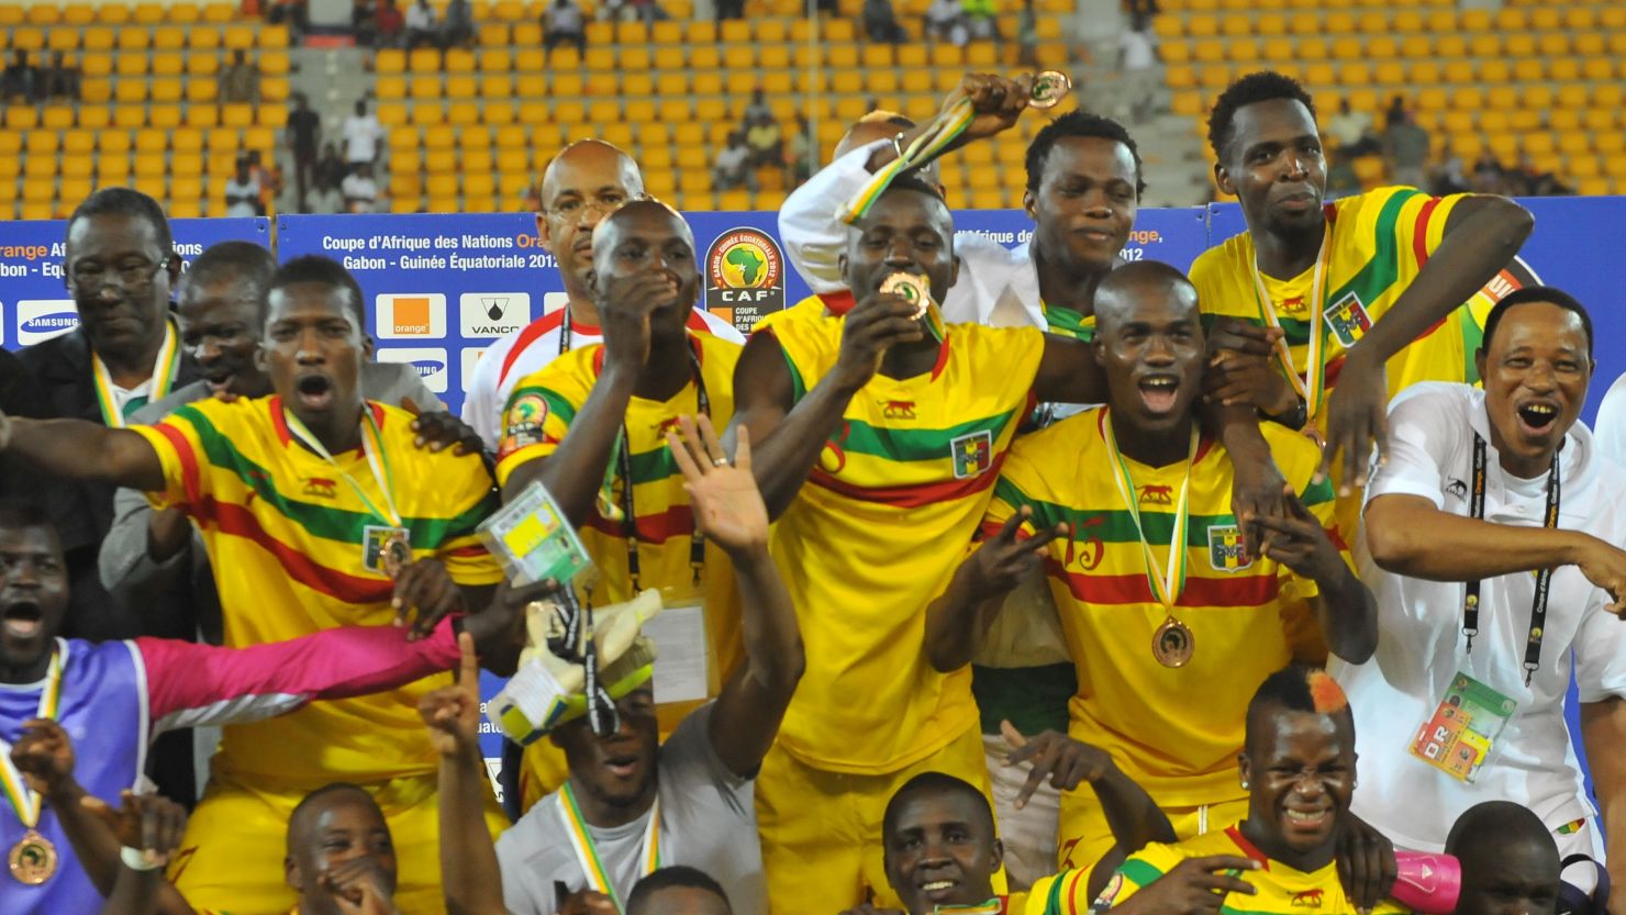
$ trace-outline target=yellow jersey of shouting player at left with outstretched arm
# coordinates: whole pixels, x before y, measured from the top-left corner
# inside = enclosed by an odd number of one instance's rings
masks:
[[[460,585],[496,585],[502,569],[475,535],[498,507],[478,455],[413,445],[413,416],[367,403],[377,421],[390,496],[413,556],[436,557]],[[278,397],[189,403],[153,426],[132,426],[164,468],[158,509],[180,509],[208,548],[224,644],[283,642],[337,626],[390,626],[393,582],[369,569],[367,507],[384,494],[361,450],[317,457],[288,431]],[[356,489],[366,492],[366,499]],[[376,567],[377,564],[372,562]],[[450,674],[224,730],[216,770],[311,788],[345,778],[433,775],[418,699]]]

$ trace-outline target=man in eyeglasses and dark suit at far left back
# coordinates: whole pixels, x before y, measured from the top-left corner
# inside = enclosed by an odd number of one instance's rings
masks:
[[[41,419],[124,426],[148,401],[198,377],[169,309],[180,257],[151,197],[109,187],[85,198],[68,219],[63,275],[80,327],[18,353],[39,387]],[[91,640],[140,635],[140,618],[115,601],[98,575],[114,488],[41,479],[33,491],[49,505],[68,561],[73,601],[65,634]]]

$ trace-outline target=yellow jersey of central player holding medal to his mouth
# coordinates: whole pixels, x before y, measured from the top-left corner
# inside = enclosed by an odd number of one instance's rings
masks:
[[[836,366],[841,319],[771,332],[800,400]],[[948,325],[930,372],[854,395],[774,525],[808,660],[779,741],[805,764],[896,772],[976,725],[971,668],[925,660],[925,608],[982,520],[1042,354],[1037,328]]]

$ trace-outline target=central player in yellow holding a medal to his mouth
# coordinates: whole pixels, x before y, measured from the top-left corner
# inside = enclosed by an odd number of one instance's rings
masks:
[[[881,798],[914,774],[987,785],[969,671],[928,668],[925,606],[1034,403],[1106,395],[1076,340],[940,325],[935,306],[922,322],[914,304],[880,291],[906,273],[938,301],[954,280],[948,206],[919,179],[878,197],[841,260],[854,310],[772,325],[746,343],[735,374],[735,421],[763,442],[756,479],[777,517],[774,557],[808,653],[758,780],[769,900],[784,910],[808,884],[837,904],[860,902],[865,886],[888,894]],[[1223,434],[1257,458],[1249,470],[1273,476],[1257,424]]]

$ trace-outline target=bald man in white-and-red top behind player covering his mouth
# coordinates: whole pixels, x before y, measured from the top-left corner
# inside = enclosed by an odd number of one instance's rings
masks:
[[[633,156],[603,140],[579,140],[559,151],[541,176],[537,234],[553,254],[567,304],[493,343],[468,382],[463,423],[486,450],[499,449],[499,424],[514,385],[561,354],[598,343],[598,306],[587,288],[593,265],[593,228],[628,200],[644,197],[644,174]],[[704,309],[686,315],[689,330],[743,343],[732,323]]]

